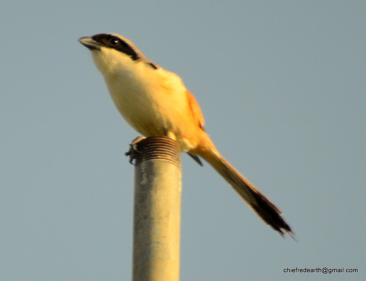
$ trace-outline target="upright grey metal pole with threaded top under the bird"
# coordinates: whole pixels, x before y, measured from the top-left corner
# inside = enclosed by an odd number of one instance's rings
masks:
[[[132,281],[178,281],[180,151],[157,136],[137,145],[134,179]]]

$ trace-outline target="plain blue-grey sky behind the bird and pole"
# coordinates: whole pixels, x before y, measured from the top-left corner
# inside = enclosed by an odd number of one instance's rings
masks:
[[[138,136],[77,39],[113,32],[182,77],[282,239],[182,155],[180,280],[365,280],[365,1],[4,1],[0,280],[130,280]],[[358,273],[284,273],[285,268]]]

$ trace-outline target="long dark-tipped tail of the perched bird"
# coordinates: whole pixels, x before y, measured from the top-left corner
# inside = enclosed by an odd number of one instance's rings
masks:
[[[281,211],[231,166],[219,152],[210,150],[202,153],[201,156],[219,172],[266,224],[278,231],[281,236],[284,236],[285,232],[287,232],[294,238],[294,233],[290,226],[281,217]]]

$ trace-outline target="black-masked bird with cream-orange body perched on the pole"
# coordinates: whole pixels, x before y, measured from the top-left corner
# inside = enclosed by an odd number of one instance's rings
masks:
[[[100,33],[78,40],[91,51],[117,110],[145,137],[167,136],[201,166],[202,157],[266,224],[294,238],[281,211],[219,153],[197,100],[182,79],[145,57],[127,38]],[[294,238],[295,239],[295,238]]]

